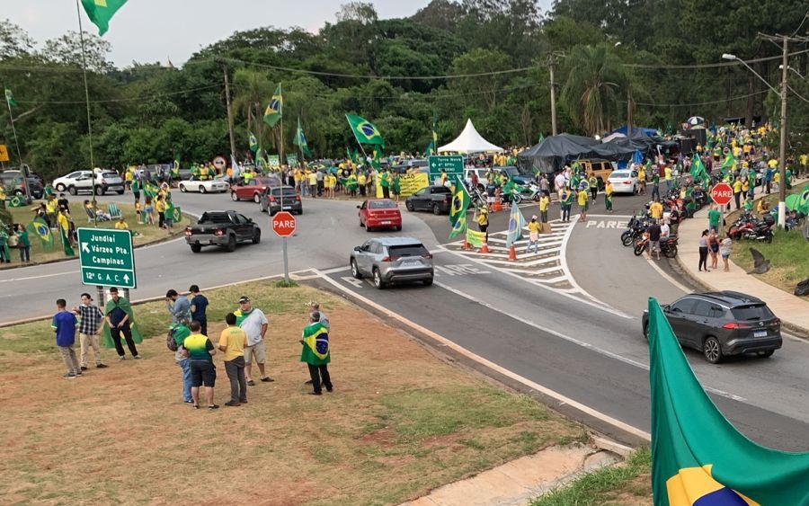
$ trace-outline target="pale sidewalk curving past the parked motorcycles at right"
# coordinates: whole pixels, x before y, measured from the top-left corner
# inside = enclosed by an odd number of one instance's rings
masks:
[[[763,196],[762,190],[756,188],[756,199]],[[683,271],[707,289],[714,291],[733,290],[759,297],[767,303],[772,312],[787,326],[794,327],[799,333],[809,334],[809,301],[805,298],[796,297],[764,281],[760,281],[755,276],[743,271],[741,267],[733,262],[729,262],[730,272],[722,271],[721,258],[719,259],[719,269],[711,270],[710,272],[698,271],[698,241],[699,235],[708,227],[708,209],[710,207],[703,208],[693,218],[680,223],[678,234],[680,236],[680,252],[677,256],[677,262],[680,263]],[[775,240],[778,241],[778,233]],[[737,244],[739,243],[733,241],[733,247],[736,247]]]

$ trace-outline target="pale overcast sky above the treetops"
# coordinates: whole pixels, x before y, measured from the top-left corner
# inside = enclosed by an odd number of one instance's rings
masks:
[[[545,12],[551,0],[538,0]],[[192,53],[234,31],[262,26],[300,26],[317,31],[334,22],[340,0],[129,0],[112,18],[104,39],[112,44],[116,67],[132,61],[182,64]],[[374,0],[381,18],[413,15],[429,0]],[[44,40],[78,31],[76,0],[0,0],[0,19]],[[85,31],[98,33],[82,12]]]

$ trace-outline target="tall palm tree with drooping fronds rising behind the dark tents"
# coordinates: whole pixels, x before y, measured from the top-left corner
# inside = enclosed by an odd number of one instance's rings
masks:
[[[577,125],[588,134],[604,133],[607,120],[618,111],[618,96],[626,89],[627,74],[607,46],[576,46],[571,50],[570,73],[562,101]]]

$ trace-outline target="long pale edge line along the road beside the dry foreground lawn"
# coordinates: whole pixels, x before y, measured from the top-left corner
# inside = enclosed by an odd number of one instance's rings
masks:
[[[358,294],[357,292],[355,292],[355,291],[353,291],[351,289],[347,289],[347,288],[343,287],[340,283],[338,283],[335,280],[332,280],[328,276],[325,276],[322,272],[317,271],[316,269],[313,269],[312,271],[319,272],[321,274],[321,278],[324,281],[326,281],[327,283],[331,284],[334,288],[339,289],[343,293],[345,293],[345,294],[347,294],[347,295],[349,295],[351,297],[354,297],[357,300],[360,300],[363,304],[366,304],[368,306],[373,307],[374,309],[378,310],[379,312],[381,312],[381,313],[383,313],[383,314],[385,314],[385,315],[387,315],[387,316],[401,322],[402,324],[405,324],[405,325],[409,326],[410,328],[412,328],[416,332],[423,333],[425,335],[430,336],[431,339],[434,339],[435,341],[440,342],[441,344],[444,344],[445,346],[452,349],[453,351],[456,351],[456,352],[460,353],[461,355],[467,357],[467,359],[469,359],[469,360],[474,360],[478,364],[480,364],[482,366],[485,366],[486,368],[491,368],[492,370],[496,371],[497,373],[502,374],[502,376],[509,377],[509,378],[513,379],[514,381],[517,381],[517,382],[521,383],[522,385],[528,386],[529,388],[531,388],[533,390],[536,390],[537,392],[539,392],[539,393],[541,393],[543,395],[547,395],[548,397],[551,397],[552,399],[555,399],[557,402],[559,402],[561,404],[567,404],[567,405],[573,407],[574,409],[576,409],[576,410],[578,410],[578,411],[580,411],[582,413],[585,413],[585,414],[587,414],[587,415],[589,415],[589,416],[591,416],[591,417],[593,417],[593,418],[595,418],[597,420],[600,420],[601,422],[609,423],[609,425],[612,425],[613,427],[616,427],[616,428],[620,429],[621,431],[626,431],[626,432],[628,432],[630,434],[633,434],[634,436],[636,436],[636,437],[638,437],[640,439],[644,439],[646,441],[651,441],[652,440],[652,435],[649,434],[646,431],[641,431],[640,429],[638,429],[638,428],[636,428],[636,427],[634,427],[632,425],[629,425],[626,422],[621,422],[618,419],[612,418],[608,414],[601,413],[600,411],[597,411],[597,410],[591,408],[590,406],[579,403],[578,401],[574,401],[570,397],[559,394],[558,392],[556,392],[554,390],[551,390],[550,388],[547,388],[547,386],[539,385],[538,383],[536,383],[534,381],[531,381],[527,377],[521,377],[519,374],[514,373],[514,372],[512,372],[511,370],[509,370],[507,368],[503,368],[502,366],[499,366],[499,365],[495,364],[491,360],[486,360],[485,358],[481,357],[480,355],[477,355],[476,353],[473,353],[472,351],[468,351],[463,346],[460,346],[456,342],[450,341],[449,339],[447,339],[446,337],[440,335],[439,333],[434,333],[430,329],[425,328],[422,325],[417,324],[417,323],[405,318],[405,316],[399,315],[398,313],[395,313],[394,311],[391,311],[390,309],[387,309],[387,307],[381,306],[378,303],[370,300],[369,298],[363,297],[360,294]]]

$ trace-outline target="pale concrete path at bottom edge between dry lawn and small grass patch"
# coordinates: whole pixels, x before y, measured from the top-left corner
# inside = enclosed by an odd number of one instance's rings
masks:
[[[612,453],[582,445],[546,448],[466,480],[441,486],[400,506],[524,506],[583,473],[617,462],[618,457]]]

